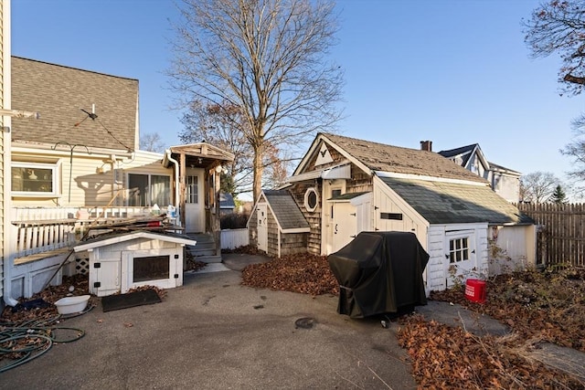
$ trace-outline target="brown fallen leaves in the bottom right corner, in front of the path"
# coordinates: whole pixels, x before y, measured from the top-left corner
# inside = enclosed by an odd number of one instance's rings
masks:
[[[515,353],[506,337],[475,336],[463,328],[425,321],[420,314],[400,320],[399,344],[412,360],[420,388],[581,388],[578,379]],[[517,340],[513,340],[514,343]]]

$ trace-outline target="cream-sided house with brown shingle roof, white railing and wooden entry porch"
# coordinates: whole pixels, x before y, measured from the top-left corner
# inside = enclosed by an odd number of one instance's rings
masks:
[[[168,213],[181,233],[209,237],[205,254],[220,260],[219,174],[232,154],[205,142],[140,151],[137,79],[19,57],[10,69],[13,107],[40,119],[11,125],[6,303],[59,284],[63,274],[90,274],[90,258],[104,251],[72,253],[96,225]],[[183,245],[196,251],[197,240]]]

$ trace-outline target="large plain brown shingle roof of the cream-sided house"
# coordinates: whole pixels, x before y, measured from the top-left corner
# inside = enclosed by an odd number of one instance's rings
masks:
[[[137,149],[137,79],[13,56],[12,107],[40,112],[37,121],[12,120],[13,141]]]

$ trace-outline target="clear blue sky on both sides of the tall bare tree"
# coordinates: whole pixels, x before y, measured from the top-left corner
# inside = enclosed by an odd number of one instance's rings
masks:
[[[171,0],[12,0],[12,54],[139,80],[140,132],[179,144],[171,110]],[[343,135],[432,150],[479,143],[488,161],[565,179],[571,121],[560,59],[531,58],[521,21],[537,0],[338,0],[330,59],[345,71]],[[299,156],[302,157],[302,156]]]

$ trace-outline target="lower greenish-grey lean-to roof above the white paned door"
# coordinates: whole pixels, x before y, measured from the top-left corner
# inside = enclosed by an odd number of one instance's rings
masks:
[[[484,185],[380,177],[431,224],[533,224],[516,206]]]

